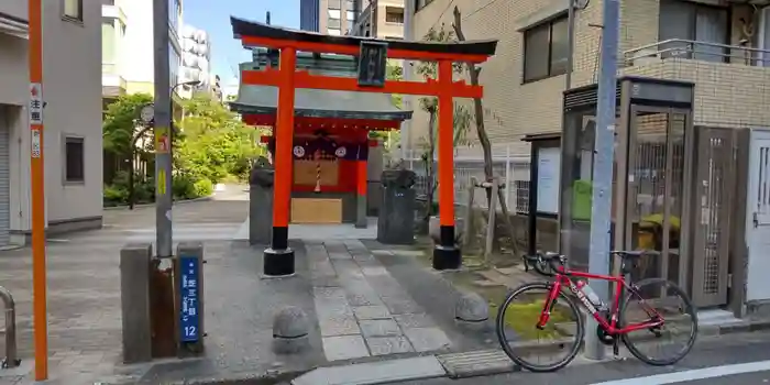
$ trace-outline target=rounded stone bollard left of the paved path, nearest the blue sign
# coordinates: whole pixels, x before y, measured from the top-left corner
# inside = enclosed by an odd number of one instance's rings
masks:
[[[273,351],[278,354],[299,353],[310,346],[310,322],[305,311],[287,306],[273,319]]]

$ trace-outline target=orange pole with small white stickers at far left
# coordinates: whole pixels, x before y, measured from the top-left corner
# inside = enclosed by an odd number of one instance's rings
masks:
[[[32,189],[32,295],[35,381],[48,380],[48,320],[45,268],[45,162],[43,158],[43,1],[29,0],[30,187]]]

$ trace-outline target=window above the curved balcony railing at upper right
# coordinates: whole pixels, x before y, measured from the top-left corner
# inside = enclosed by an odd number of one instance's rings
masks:
[[[706,44],[671,42],[661,45],[663,57],[679,56],[707,62],[726,62],[729,21],[726,8],[688,1],[660,1],[659,40],[681,38]],[[711,43],[711,44],[710,44]]]

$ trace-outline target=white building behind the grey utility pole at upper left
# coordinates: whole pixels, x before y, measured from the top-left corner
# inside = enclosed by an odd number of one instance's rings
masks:
[[[183,0],[169,2],[170,84],[180,80]],[[105,108],[124,94],[154,94],[153,0],[102,0],[102,97]],[[180,87],[182,88],[182,87]],[[175,89],[175,99],[189,89]]]

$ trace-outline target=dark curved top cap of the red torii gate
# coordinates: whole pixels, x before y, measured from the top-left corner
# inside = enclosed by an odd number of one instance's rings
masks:
[[[416,51],[438,54],[487,55],[495,54],[497,40],[465,41],[465,42],[410,42],[403,40],[375,40],[363,36],[336,36],[317,32],[299,31],[279,28],[239,18],[230,18],[232,32],[237,38],[241,36],[258,36],[283,41],[324,43],[346,46],[360,46],[362,41],[387,42],[389,48]]]

